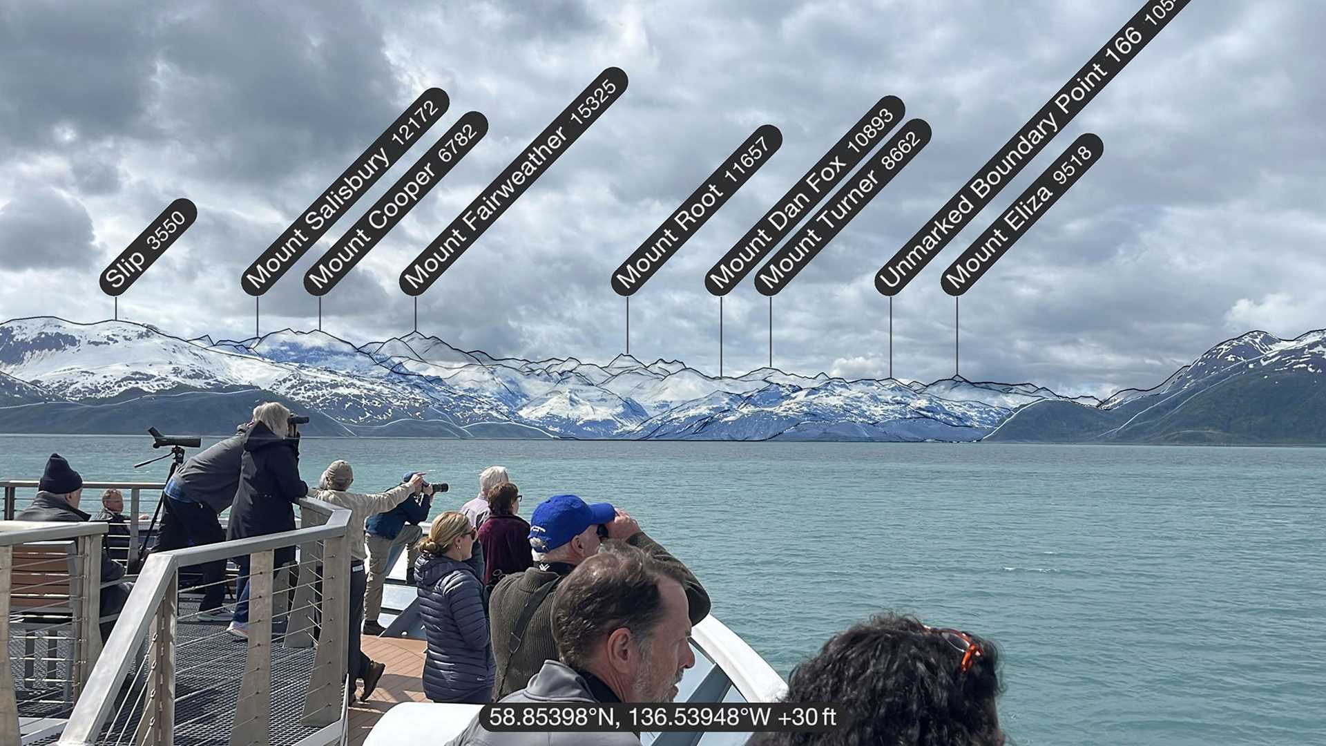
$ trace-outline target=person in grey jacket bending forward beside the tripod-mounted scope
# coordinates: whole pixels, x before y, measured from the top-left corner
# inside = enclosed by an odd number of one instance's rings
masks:
[[[240,462],[244,455],[244,431],[236,433],[202,453],[194,454],[171,475],[162,490],[166,515],[152,551],[203,547],[225,540],[220,515],[235,502],[240,486]],[[221,605],[225,596],[225,560],[203,564],[203,601],[194,616],[198,621],[228,621],[231,612]]]

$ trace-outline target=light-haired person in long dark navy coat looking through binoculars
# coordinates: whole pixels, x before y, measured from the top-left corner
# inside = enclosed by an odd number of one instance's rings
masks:
[[[309,494],[300,479],[300,447],[289,425],[290,410],[278,402],[253,409],[253,422],[244,434],[240,486],[231,506],[229,539],[294,531],[294,503]],[[277,435],[281,433],[281,435]],[[294,561],[294,547],[276,550],[273,567]],[[227,632],[248,637],[249,556],[235,558],[240,567],[235,617]]]

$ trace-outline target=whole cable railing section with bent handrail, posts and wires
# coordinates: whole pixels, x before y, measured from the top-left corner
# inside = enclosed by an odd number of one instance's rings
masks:
[[[58,743],[252,746],[292,733],[306,746],[341,741],[350,511],[316,499],[298,504],[294,531],[150,555]],[[290,548],[297,560],[274,567]],[[180,593],[182,569],[243,556],[247,644],[224,620],[203,623],[196,597]]]

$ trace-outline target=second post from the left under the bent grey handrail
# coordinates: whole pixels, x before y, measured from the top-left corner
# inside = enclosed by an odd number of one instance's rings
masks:
[[[231,746],[267,746],[271,737],[272,560],[272,550],[249,555],[249,644],[244,657],[244,681],[235,705]]]

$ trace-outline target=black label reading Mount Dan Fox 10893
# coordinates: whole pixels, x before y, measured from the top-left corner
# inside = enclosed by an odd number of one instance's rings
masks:
[[[709,293],[724,296],[732,292],[797,227],[802,214],[819,204],[903,121],[906,110],[896,96],[884,96],[876,101],[709,269],[704,277],[704,287]]]

